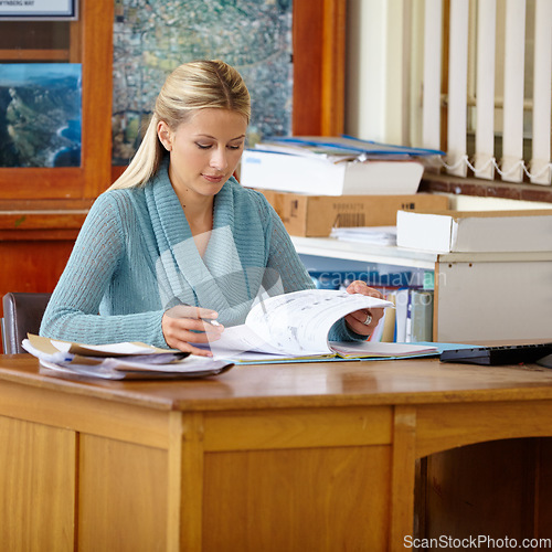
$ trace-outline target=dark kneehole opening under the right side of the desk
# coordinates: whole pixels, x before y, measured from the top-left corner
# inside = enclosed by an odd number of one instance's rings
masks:
[[[481,550],[501,543],[508,548],[503,543],[509,539],[518,544],[510,548],[546,550],[545,539],[549,548],[552,539],[551,453],[550,437],[507,438],[422,459],[416,489],[420,538],[481,539]],[[534,539],[534,548],[524,539]]]

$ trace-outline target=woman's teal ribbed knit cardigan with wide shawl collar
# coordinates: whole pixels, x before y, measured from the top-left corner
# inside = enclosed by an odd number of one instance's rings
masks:
[[[215,197],[203,257],[163,161],[140,188],[95,201],[44,314],[40,333],[99,344],[167,347],[161,318],[179,304],[243,323],[255,297],[312,287],[278,215],[263,194],[231,178]],[[343,320],[331,339],[361,339]]]

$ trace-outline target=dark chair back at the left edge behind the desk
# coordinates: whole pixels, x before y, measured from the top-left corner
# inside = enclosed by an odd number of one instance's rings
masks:
[[[2,298],[2,344],[4,354],[26,352],[21,342],[39,333],[42,316],[52,294],[9,293]]]

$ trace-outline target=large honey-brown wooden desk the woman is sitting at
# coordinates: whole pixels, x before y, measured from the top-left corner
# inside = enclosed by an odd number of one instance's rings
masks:
[[[552,371],[436,360],[89,382],[0,357],[4,551],[384,551],[417,458],[552,435]],[[530,537],[530,535],[529,535]]]

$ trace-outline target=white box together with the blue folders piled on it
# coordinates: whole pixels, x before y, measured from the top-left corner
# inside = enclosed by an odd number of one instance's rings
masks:
[[[273,138],[244,151],[241,183],[318,195],[413,194],[421,159],[442,152],[349,137]]]

